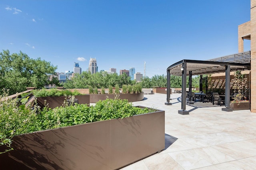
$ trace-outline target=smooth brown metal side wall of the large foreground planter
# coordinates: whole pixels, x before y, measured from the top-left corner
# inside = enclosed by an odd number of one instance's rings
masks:
[[[0,154],[0,169],[121,168],[164,149],[164,114],[157,110],[15,136],[14,150]]]

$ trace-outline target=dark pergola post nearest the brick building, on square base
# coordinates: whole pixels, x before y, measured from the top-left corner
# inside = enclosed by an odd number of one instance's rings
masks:
[[[225,72],[225,106],[226,108],[222,108],[222,111],[233,111],[230,108],[230,65],[226,65],[226,72]]]

